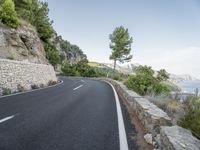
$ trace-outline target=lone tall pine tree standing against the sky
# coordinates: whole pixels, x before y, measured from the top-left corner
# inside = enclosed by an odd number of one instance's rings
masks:
[[[116,62],[124,62],[132,59],[130,55],[131,44],[133,42],[132,37],[128,33],[128,29],[123,26],[117,27],[112,34],[109,36],[111,43],[110,48],[112,49],[112,54],[110,59],[114,60],[114,70],[116,67]]]

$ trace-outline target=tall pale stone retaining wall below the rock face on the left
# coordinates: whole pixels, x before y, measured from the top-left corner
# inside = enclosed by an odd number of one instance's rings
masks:
[[[57,81],[51,65],[0,59],[0,95],[2,88],[16,92],[19,85],[29,90],[33,84],[47,85],[49,81]]]

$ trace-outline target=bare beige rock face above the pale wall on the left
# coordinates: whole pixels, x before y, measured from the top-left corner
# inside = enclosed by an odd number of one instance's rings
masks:
[[[17,30],[0,25],[0,58],[48,63],[43,44],[30,25]]]

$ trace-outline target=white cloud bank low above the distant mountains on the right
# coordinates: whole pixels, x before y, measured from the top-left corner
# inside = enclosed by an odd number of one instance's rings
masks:
[[[150,65],[155,69],[164,68],[174,74],[190,74],[200,78],[200,47],[189,47],[179,50],[165,50],[136,58],[142,64]]]

